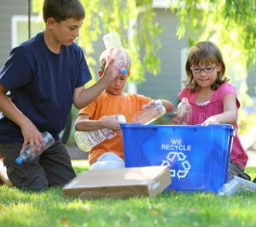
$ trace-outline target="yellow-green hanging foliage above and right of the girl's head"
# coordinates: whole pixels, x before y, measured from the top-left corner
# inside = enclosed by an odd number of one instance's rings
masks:
[[[241,100],[248,100],[244,78],[256,64],[256,0],[177,0],[171,4],[179,25],[177,37],[189,46],[211,40],[221,48],[228,73],[241,79]]]

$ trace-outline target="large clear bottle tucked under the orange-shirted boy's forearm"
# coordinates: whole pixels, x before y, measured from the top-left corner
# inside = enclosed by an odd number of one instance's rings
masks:
[[[107,117],[113,117],[119,123],[126,122],[125,116],[123,115],[102,116],[101,119]],[[74,135],[74,139],[80,150],[90,151],[94,146],[102,143],[102,141],[106,139],[113,139],[116,135],[117,133],[113,132],[113,130],[102,128],[91,131],[77,131]]]

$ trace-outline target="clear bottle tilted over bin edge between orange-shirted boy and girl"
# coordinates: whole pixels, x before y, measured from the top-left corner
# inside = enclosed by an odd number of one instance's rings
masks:
[[[155,100],[145,105],[143,110],[139,111],[133,118],[132,122],[149,124],[154,122],[160,116],[166,113],[166,107],[162,104],[161,100]]]

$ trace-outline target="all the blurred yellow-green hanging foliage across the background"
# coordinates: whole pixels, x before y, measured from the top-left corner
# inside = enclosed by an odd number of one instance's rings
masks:
[[[80,1],[86,17],[78,43],[84,48],[90,67],[96,65],[92,54],[97,39],[109,31],[118,31],[124,47],[131,51],[133,66],[130,81],[144,81],[145,71],[154,75],[160,73],[158,50],[161,48],[159,35],[162,28],[155,22],[153,0]],[[245,77],[248,69],[256,65],[256,0],[166,2],[170,3],[170,10],[179,21],[177,38],[188,37],[189,47],[205,40],[216,43],[224,54],[227,75],[241,78],[238,91],[241,105],[253,105],[247,95]],[[44,0],[32,0],[33,12],[42,14],[43,3]],[[241,132],[255,125],[255,119],[254,115],[241,111]]]

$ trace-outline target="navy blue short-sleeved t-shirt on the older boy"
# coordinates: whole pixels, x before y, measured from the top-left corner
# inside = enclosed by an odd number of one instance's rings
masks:
[[[39,131],[55,139],[65,128],[74,89],[90,79],[82,49],[73,43],[54,54],[44,43],[44,32],[14,48],[0,72],[10,99]],[[23,143],[20,127],[6,116],[0,119],[0,143]]]

